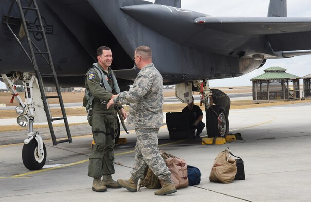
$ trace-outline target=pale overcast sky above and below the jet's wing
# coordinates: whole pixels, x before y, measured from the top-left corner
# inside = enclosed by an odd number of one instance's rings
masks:
[[[151,1],[154,2],[154,1]],[[239,17],[265,17],[268,13],[269,0],[184,0],[181,7],[212,16],[239,16]],[[287,0],[288,17],[311,17],[310,0]],[[270,59],[266,64],[246,75],[211,80],[211,87],[224,86],[251,86],[250,79],[258,76],[271,66],[280,66],[287,69],[287,73],[302,77],[311,74],[311,55],[288,59]],[[0,88],[5,88],[1,82]]]

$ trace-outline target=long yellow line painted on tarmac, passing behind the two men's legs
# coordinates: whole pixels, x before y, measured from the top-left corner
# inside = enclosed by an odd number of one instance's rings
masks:
[[[180,143],[180,142],[185,142],[185,141],[187,141],[187,139],[178,140],[178,141],[176,141],[176,142],[171,142],[171,143],[162,144],[162,145],[159,145],[159,147],[163,147],[163,146],[167,146],[167,145],[172,145],[172,144],[175,144],[175,143]],[[117,153],[117,154],[115,154],[115,156],[120,156],[120,155],[124,155],[124,154],[129,154],[129,153],[133,153],[133,152],[135,152],[135,150],[127,151],[127,152],[122,152],[122,153]],[[86,162],[88,162],[88,161],[89,161],[89,159],[87,159],[87,160],[81,160],[81,161],[77,161],[77,162],[70,163],[70,164],[65,164],[65,165],[56,166],[56,167],[52,167],[52,168],[46,168],[46,169],[42,169],[42,170],[31,171],[31,172],[27,172],[27,173],[24,173],[24,174],[13,175],[13,176],[11,176],[11,177],[3,177],[3,178],[20,178],[20,177],[25,177],[25,176],[31,175],[31,174],[36,174],[36,173],[41,173],[41,172],[45,172],[45,171],[55,170],[55,169],[64,168],[64,167],[68,167],[68,166],[74,166],[74,165],[77,165],[77,164],[86,163]],[[1,179],[1,178],[0,178],[0,179]]]

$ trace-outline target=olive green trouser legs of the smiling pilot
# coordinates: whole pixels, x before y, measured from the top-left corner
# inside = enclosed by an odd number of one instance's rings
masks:
[[[90,125],[95,144],[89,157],[88,176],[90,177],[97,178],[115,173],[114,118],[114,114],[92,114]]]

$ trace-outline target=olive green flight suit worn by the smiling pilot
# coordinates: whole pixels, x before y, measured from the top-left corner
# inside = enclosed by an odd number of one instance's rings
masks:
[[[102,67],[99,63],[93,66]],[[92,126],[92,133],[95,145],[89,158],[88,176],[98,178],[103,175],[111,175],[115,173],[114,168],[114,128],[116,119],[116,110],[114,107],[107,109],[107,103],[112,94],[119,93],[119,87],[116,79],[112,76],[113,72],[109,67],[108,73],[104,73],[104,79],[107,80],[111,92],[107,91],[102,75],[98,75],[96,69],[90,68],[85,76],[85,87],[89,89],[94,96],[92,110],[90,111],[89,124]],[[115,80],[115,82],[114,82]],[[107,84],[107,83],[106,83]],[[109,87],[107,87],[109,88]],[[116,92],[116,89],[118,92]],[[118,106],[122,107],[122,106]]]

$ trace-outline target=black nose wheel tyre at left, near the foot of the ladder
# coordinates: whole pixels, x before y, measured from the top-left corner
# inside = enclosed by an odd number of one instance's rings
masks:
[[[46,148],[43,143],[43,156],[39,157],[36,155],[36,150],[38,149],[38,143],[36,139],[32,139],[28,144],[24,144],[22,150],[22,159],[24,166],[29,170],[40,170],[46,161]]]

